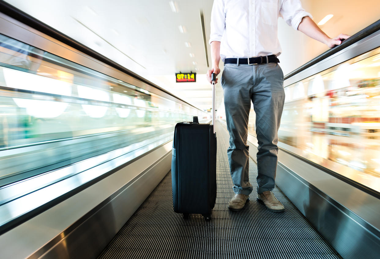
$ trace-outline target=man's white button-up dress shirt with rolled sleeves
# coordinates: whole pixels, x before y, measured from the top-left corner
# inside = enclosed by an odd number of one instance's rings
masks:
[[[214,0],[210,41],[220,41],[220,57],[247,58],[281,53],[277,20],[298,30],[306,12],[300,0]]]

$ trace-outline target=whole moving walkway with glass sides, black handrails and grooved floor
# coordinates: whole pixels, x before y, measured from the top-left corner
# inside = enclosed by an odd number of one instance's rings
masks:
[[[284,213],[266,211],[253,193],[241,212],[227,210],[233,195],[228,135],[223,120],[218,122],[218,198],[212,222],[204,222],[200,215],[184,220],[174,214],[169,171],[175,123],[193,115],[207,122],[209,115],[53,28],[15,14],[0,14],[2,258],[377,258],[378,157],[361,159],[365,166],[337,157],[357,142],[377,147],[377,137],[367,136],[377,128],[353,125],[356,132],[337,124],[376,123],[376,116],[345,123],[344,112],[348,99],[368,96],[356,100],[363,108],[364,100],[378,98],[379,75],[372,78],[372,68],[380,55],[380,22],[285,77],[275,189]],[[341,64],[347,65],[334,72]],[[345,78],[349,85],[336,86],[332,74],[339,79],[355,69],[364,71],[355,75],[363,82]],[[325,103],[340,106],[344,112],[331,112],[341,117],[327,114],[326,121],[324,111],[317,112]],[[331,147],[330,156],[323,156],[318,143]]]

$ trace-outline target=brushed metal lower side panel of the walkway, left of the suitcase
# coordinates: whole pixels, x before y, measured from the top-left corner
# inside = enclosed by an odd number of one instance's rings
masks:
[[[168,142],[0,236],[2,259],[95,258],[170,170]]]

